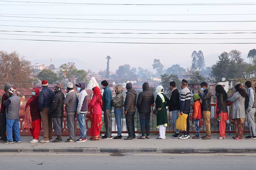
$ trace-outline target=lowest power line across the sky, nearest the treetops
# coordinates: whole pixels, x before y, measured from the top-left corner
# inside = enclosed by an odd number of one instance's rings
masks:
[[[53,41],[53,42],[87,42],[87,43],[117,43],[117,44],[256,44],[256,42],[169,43],[169,42],[64,41],[64,40],[34,40],[34,39],[11,39],[11,38],[0,38],[0,40]]]

